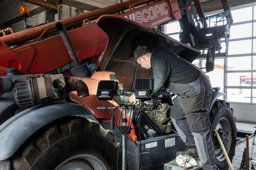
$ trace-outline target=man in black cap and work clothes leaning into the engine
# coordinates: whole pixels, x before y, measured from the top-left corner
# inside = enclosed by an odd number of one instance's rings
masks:
[[[154,93],[165,86],[177,95],[170,115],[174,127],[187,145],[184,152],[177,154],[199,156],[205,170],[219,169],[216,166],[209,122],[213,90],[205,73],[167,47],[150,50],[146,46],[138,46],[134,57],[141,67],[152,68]],[[136,103],[134,94],[129,101]]]

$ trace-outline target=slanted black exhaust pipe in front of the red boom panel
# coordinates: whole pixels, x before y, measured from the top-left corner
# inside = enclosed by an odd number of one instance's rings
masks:
[[[69,56],[70,56],[71,60],[73,61],[74,66],[80,66],[81,62],[78,59],[77,53],[75,52],[75,49],[74,49],[74,46],[72,45],[72,43],[69,39],[67,30],[65,29],[65,27],[62,25],[61,22],[56,23],[56,28],[59,31],[60,36],[61,36],[65,46],[67,47]]]

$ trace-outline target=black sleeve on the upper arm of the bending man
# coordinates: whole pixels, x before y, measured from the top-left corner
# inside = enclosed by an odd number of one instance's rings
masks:
[[[171,73],[171,66],[168,58],[160,53],[151,56],[151,66],[154,77],[154,93],[163,87],[165,82],[169,80]]]

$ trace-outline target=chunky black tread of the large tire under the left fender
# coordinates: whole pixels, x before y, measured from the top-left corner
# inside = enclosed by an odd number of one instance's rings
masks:
[[[61,139],[79,133],[98,134],[109,140],[116,148],[114,134],[99,123],[83,118],[62,118],[56,120],[32,135],[11,158],[13,170],[31,169],[36,160]]]

